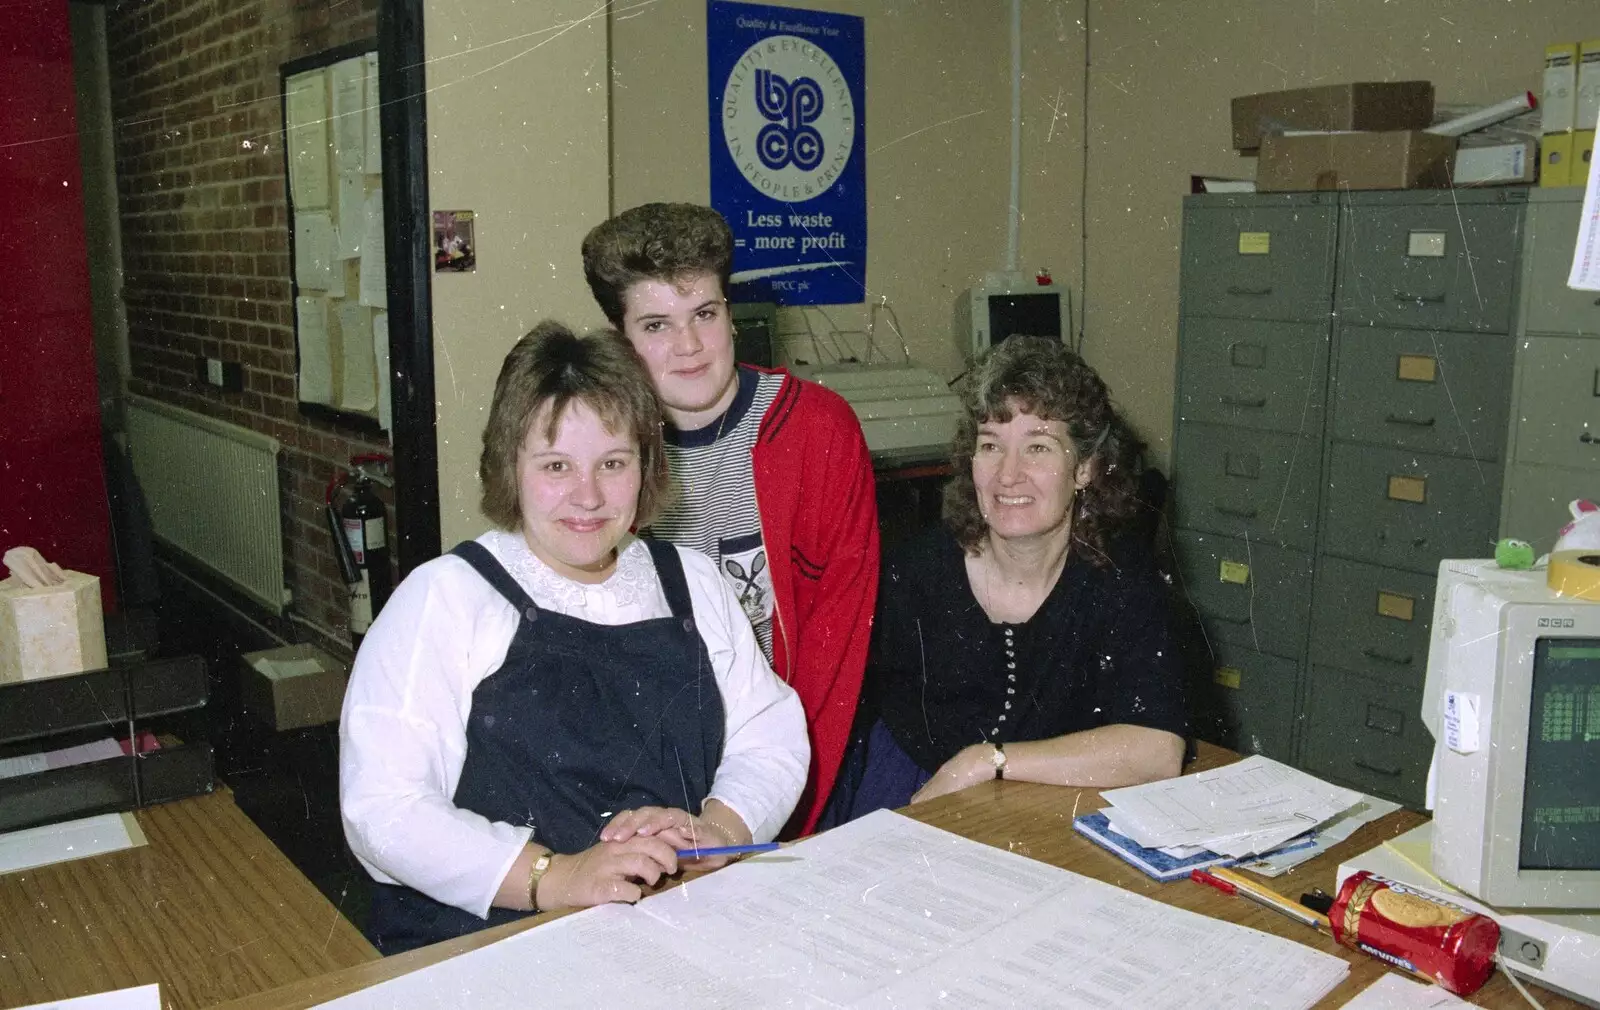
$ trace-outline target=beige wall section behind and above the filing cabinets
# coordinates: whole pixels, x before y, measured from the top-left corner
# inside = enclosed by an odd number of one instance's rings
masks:
[[[1171,434],[1182,194],[1190,174],[1254,173],[1229,147],[1232,96],[1421,78],[1440,102],[1491,102],[1538,91],[1547,43],[1600,34],[1592,0],[1086,2],[1083,351],[1160,459]]]

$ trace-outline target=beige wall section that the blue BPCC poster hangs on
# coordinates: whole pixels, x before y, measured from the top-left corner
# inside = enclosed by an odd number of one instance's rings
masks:
[[[962,368],[957,293],[1005,266],[1010,197],[1010,3],[1005,0],[811,0],[787,3],[866,19],[867,291],[886,296],[912,355],[944,376]],[[1024,18],[1024,222],[1019,266],[1077,285],[1075,197],[1082,133],[1082,29],[1066,3],[1029,0]],[[618,210],[650,200],[707,202],[706,0],[624,8],[611,24],[611,163]],[[1056,109],[1062,112],[1056,118]],[[598,312],[590,314],[598,319]],[[832,317],[856,354],[866,306]],[[786,331],[800,320],[786,314]],[[888,351],[888,341],[878,347]],[[792,357],[816,360],[806,339]],[[898,354],[898,349],[896,349]]]

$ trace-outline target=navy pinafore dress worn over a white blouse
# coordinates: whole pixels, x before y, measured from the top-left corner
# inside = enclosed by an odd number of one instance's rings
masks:
[[[672,616],[616,626],[541,610],[483,544],[451,551],[522,615],[506,661],[472,691],[456,807],[530,824],[536,844],[566,855],[622,810],[699,810],[722,762],[722,691],[677,549],[643,543]],[[523,916],[496,908],[485,920],[374,884],[366,932],[387,956]]]

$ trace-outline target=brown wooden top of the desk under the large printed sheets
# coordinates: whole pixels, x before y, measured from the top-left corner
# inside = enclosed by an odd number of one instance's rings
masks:
[[[1237,759],[1238,755],[1230,751],[1200,744],[1200,754],[1187,770],[1203,772]],[[909,807],[904,813],[963,837],[1106,880],[1157,901],[1165,901],[1166,904],[1286,936],[1342,957],[1350,964],[1350,975],[1318,1007],[1342,1007],[1387,970],[1378,959],[1341,948],[1331,936],[1312,932],[1243,898],[1229,898],[1210,887],[1200,887],[1186,880],[1157,884],[1146,877],[1138,869],[1094,847],[1072,831],[1072,818],[1075,815],[1096,810],[1099,805],[1099,792],[1094,789],[1062,789],[1058,786],[1006,781],[984,783],[963,792]],[[1334,872],[1341,860],[1365,852],[1403,831],[1410,831],[1422,820],[1421,815],[1408,810],[1392,813],[1358,829],[1347,842],[1336,845],[1328,853],[1267,884],[1290,896],[1299,896],[1301,892],[1314,887],[1333,890]],[[299,1010],[302,1007],[315,1007],[347,992],[365,989],[384,980],[437,964],[446,957],[504,940],[522,930],[534,928],[557,917],[560,917],[560,912],[539,916],[525,922],[512,922],[472,936],[411,951],[410,954],[357,964],[328,975],[291,983],[282,989],[237,999],[226,1004],[226,1010]],[[1579,1007],[1573,1000],[1552,996],[1542,989],[1534,991],[1547,1010]],[[1501,1007],[1504,1010],[1526,1007],[1506,978],[1499,975],[1474,996],[1470,1002],[1480,1007]]]

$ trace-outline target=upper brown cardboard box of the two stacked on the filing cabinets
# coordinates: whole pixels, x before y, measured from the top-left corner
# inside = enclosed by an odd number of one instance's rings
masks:
[[[1266,91],[1234,99],[1234,147],[1254,150],[1285,130],[1426,130],[1432,122],[1426,80]]]

